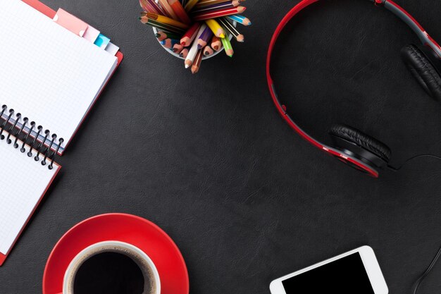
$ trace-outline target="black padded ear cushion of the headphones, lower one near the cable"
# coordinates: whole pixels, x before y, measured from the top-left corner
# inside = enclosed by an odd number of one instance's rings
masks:
[[[389,162],[390,148],[361,130],[336,124],[330,128],[329,134],[335,148],[370,166],[384,167]]]

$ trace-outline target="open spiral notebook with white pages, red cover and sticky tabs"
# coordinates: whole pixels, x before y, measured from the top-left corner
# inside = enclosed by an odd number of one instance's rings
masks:
[[[94,27],[37,0],[0,1],[0,40],[1,265],[123,55]]]

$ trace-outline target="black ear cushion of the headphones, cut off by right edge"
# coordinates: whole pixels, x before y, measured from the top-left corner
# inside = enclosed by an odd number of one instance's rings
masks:
[[[435,57],[435,52],[430,48],[411,44],[404,47],[401,54],[418,83],[430,97],[441,102],[441,63]]]

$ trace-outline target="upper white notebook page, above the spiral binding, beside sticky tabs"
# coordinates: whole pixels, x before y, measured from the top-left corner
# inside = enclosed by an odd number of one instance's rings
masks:
[[[64,145],[117,64],[20,0],[0,1],[0,54],[0,104],[63,137]]]

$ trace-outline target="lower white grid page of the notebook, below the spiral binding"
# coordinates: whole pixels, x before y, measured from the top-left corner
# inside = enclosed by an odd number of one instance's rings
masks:
[[[29,148],[22,153],[20,147],[15,149],[13,143],[0,140],[0,252],[4,255],[60,168],[54,163],[54,169],[49,170],[47,159],[46,166],[41,164],[42,156],[35,161],[35,149],[33,157],[27,157]]]

